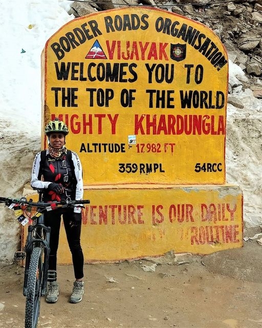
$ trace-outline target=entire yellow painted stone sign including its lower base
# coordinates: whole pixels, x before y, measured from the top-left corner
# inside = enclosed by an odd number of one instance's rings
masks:
[[[82,162],[85,262],[243,246],[243,193],[225,184],[227,91],[221,40],[165,10],[97,12],[50,37],[42,124],[65,121]],[[71,262],[63,229],[58,258]]]

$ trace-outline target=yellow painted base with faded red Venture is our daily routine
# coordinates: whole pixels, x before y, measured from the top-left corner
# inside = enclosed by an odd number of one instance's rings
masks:
[[[82,214],[85,263],[243,246],[243,193],[237,186],[93,186],[84,198],[91,201]],[[71,261],[62,224],[58,262]]]

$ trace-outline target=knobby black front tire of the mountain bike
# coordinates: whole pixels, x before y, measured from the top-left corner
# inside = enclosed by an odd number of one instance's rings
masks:
[[[41,300],[42,257],[40,247],[35,247],[31,254],[28,271],[25,328],[36,328]]]

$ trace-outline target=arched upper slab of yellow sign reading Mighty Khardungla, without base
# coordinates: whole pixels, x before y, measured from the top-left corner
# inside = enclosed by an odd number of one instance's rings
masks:
[[[69,126],[85,184],[225,183],[228,58],[205,25],[146,7],[94,13],[48,40],[42,70],[43,124]]]

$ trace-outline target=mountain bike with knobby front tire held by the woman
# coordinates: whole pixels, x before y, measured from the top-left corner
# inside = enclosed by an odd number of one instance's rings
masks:
[[[25,260],[23,295],[26,296],[25,328],[36,328],[39,320],[41,296],[45,296],[47,282],[56,280],[56,272],[48,270],[50,253],[50,227],[44,224],[44,216],[48,211],[63,208],[74,208],[89,204],[90,200],[61,200],[52,202],[0,197],[0,203],[5,203],[15,211],[18,221],[28,225],[28,236],[23,251],[15,252],[15,259]]]

